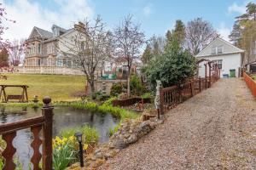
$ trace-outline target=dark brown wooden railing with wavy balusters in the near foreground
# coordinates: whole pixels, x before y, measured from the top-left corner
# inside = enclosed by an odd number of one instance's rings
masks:
[[[30,127],[33,134],[31,143],[33,155],[31,162],[34,170],[51,170],[52,169],[52,120],[53,120],[53,106],[50,105],[51,99],[45,97],[43,99],[44,106],[42,108],[42,116],[29,118],[20,122],[11,122],[0,125],[0,134],[2,139],[6,142],[6,148],[3,150],[2,156],[4,159],[3,170],[15,170],[14,155],[16,152],[13,146],[13,140],[16,133],[20,129]],[[40,139],[40,131],[43,130],[43,139]],[[39,148],[43,144],[42,153]],[[43,159],[42,159],[43,156]],[[42,168],[39,163],[42,159]]]

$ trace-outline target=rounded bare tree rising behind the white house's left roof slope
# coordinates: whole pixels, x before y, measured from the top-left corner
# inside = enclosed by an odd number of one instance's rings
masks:
[[[197,18],[189,21],[186,26],[185,46],[195,55],[217,36],[217,32],[209,22]]]

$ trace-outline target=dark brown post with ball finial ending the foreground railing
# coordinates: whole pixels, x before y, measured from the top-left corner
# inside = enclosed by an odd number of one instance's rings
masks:
[[[52,170],[52,124],[54,107],[50,104],[51,99],[49,97],[44,97],[43,102],[43,170]]]

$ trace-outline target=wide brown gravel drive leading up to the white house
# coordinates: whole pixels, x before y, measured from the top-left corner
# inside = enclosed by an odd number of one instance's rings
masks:
[[[221,79],[100,169],[256,169],[256,101],[242,79]]]

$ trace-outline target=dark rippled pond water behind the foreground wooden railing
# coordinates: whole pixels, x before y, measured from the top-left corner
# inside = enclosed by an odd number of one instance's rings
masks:
[[[0,124],[17,122],[22,119],[41,116],[41,114],[40,108],[0,108]],[[100,134],[100,143],[108,141],[108,129],[113,128],[119,122],[119,119],[113,117],[111,114],[91,113],[68,107],[55,107],[53,119],[54,136],[58,135],[63,128],[88,125],[96,128]],[[24,169],[28,168],[27,165],[32,156],[31,141],[32,134],[30,130],[23,129],[17,132],[17,136],[13,142],[16,148],[16,156],[19,158],[21,164],[23,164]]]

